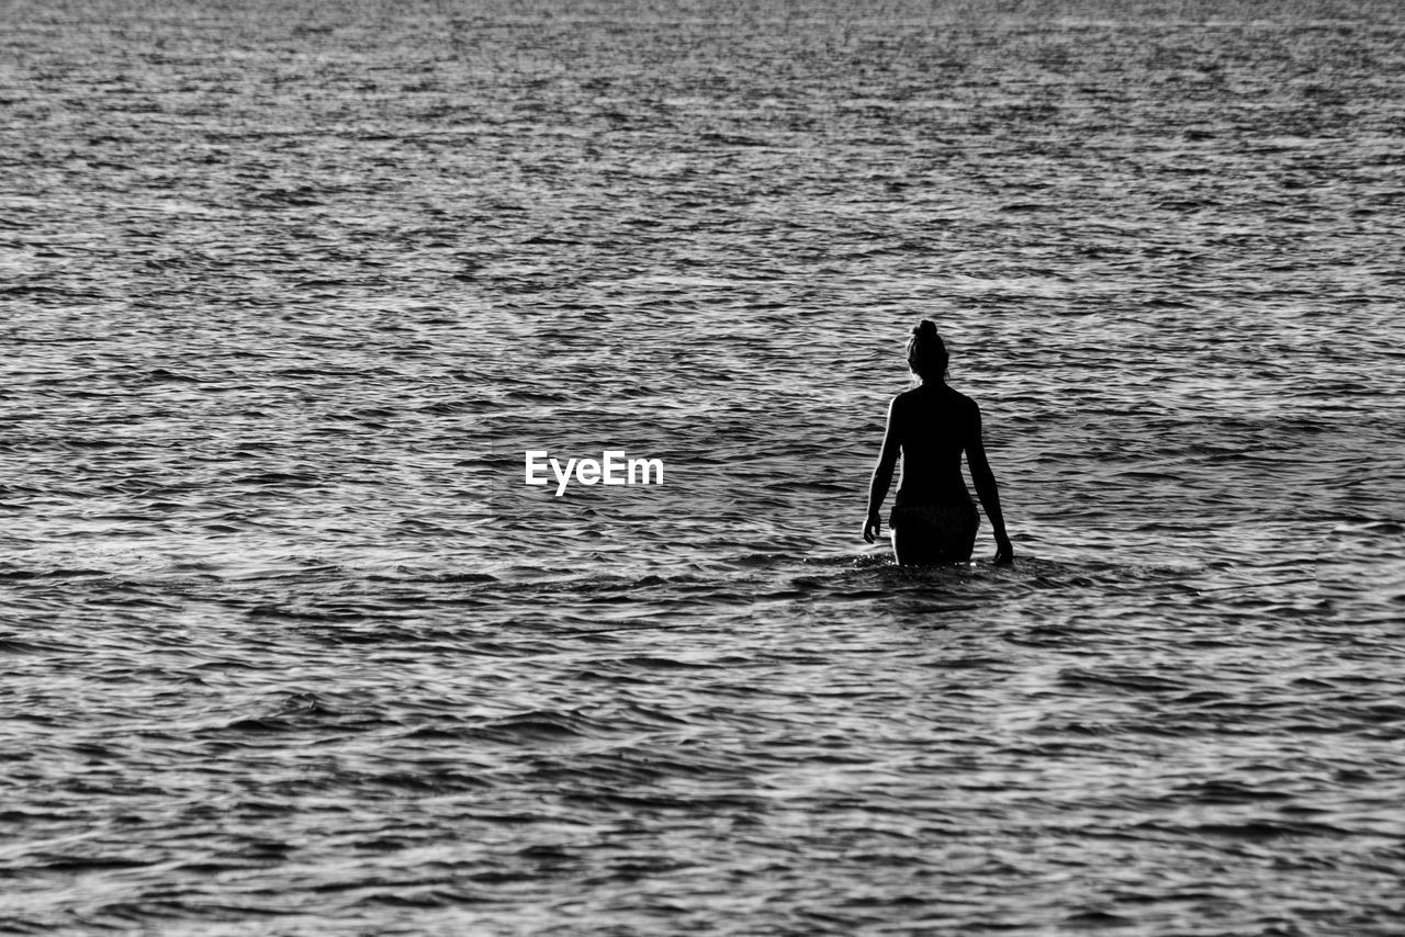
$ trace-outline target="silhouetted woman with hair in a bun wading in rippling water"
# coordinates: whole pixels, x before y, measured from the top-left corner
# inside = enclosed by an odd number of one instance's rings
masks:
[[[888,430],[868,489],[864,539],[871,544],[878,537],[882,525],[878,511],[901,454],[902,485],[888,518],[898,562],[906,566],[971,559],[981,516],[961,478],[965,452],[971,480],[995,528],[995,562],[1012,562],[1014,548],[1005,532],[1000,492],[981,440],[981,407],[947,386],[947,346],[930,319],[912,330],[908,367],[922,378],[922,386],[899,393],[888,407]]]

